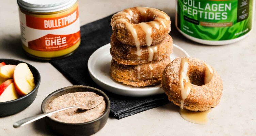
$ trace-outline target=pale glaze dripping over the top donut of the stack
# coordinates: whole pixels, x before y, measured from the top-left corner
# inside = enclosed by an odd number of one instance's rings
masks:
[[[137,11],[137,12],[136,12]],[[153,14],[156,16],[154,18],[154,21],[146,22],[148,18],[148,14]],[[138,23],[138,17],[142,16],[141,19],[144,19],[141,23]],[[141,41],[138,38],[138,34],[136,29],[134,28],[135,26],[139,26],[142,31],[145,33],[145,40],[146,44],[150,46],[152,44],[153,38],[151,37],[153,28],[159,30],[160,25],[162,25],[164,28],[166,28],[166,20],[170,20],[170,17],[165,14],[164,12],[156,9],[156,8],[149,8],[149,7],[135,7],[135,8],[128,8],[125,9],[124,11],[116,13],[112,20],[111,20],[111,26],[112,30],[114,29],[114,26],[117,25],[117,23],[122,22],[125,24],[127,30],[131,32],[132,37],[134,39],[135,46],[137,47],[137,56],[138,59],[140,59],[141,56],[141,49],[140,49],[140,44]],[[138,24],[133,24],[131,22],[136,22]]]

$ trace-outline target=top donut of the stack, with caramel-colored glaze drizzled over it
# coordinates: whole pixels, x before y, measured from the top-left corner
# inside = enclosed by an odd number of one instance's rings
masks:
[[[113,33],[124,44],[157,45],[171,31],[170,17],[156,8],[133,7],[113,15]]]

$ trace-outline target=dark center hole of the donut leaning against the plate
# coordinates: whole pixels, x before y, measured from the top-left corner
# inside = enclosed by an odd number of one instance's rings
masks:
[[[204,85],[204,72],[197,69],[193,69],[189,70],[188,76],[192,84],[198,86]]]

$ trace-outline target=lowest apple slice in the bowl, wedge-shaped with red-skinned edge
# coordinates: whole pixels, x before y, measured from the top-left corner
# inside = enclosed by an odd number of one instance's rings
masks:
[[[9,79],[13,80],[13,79]],[[5,101],[11,101],[18,99],[19,95],[17,94],[14,86],[14,82],[9,84],[7,88],[3,91],[2,95],[0,96],[0,102],[5,102]]]

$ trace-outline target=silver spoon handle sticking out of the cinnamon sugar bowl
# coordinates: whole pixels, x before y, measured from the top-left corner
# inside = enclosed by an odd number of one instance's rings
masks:
[[[52,112],[48,112],[48,113],[43,113],[43,114],[39,114],[39,115],[35,115],[35,116],[31,116],[31,117],[28,117],[28,118],[24,118],[24,119],[21,119],[17,122],[15,122],[13,124],[13,127],[14,128],[18,128],[20,126],[23,126],[23,125],[26,125],[26,124],[29,124],[31,122],[34,122],[38,119],[41,119],[43,117],[46,117],[46,116],[49,116],[53,113],[57,113],[57,112],[60,112],[60,111],[64,111],[64,110],[67,110],[67,109],[72,109],[72,108],[79,108],[77,106],[71,106],[71,107],[67,107],[67,108],[63,108],[63,109],[60,109],[60,110],[56,110],[56,111],[52,111]]]

